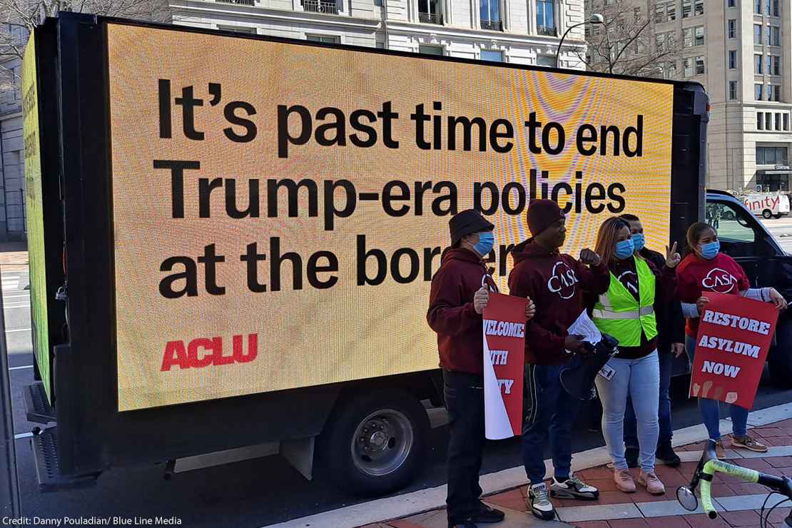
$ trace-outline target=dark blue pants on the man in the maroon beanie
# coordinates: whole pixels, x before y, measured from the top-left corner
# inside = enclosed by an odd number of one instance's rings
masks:
[[[545,478],[544,447],[550,435],[555,477],[569,478],[572,424],[581,401],[567,393],[558,375],[561,365],[526,365],[523,403],[523,463],[531,484]]]

